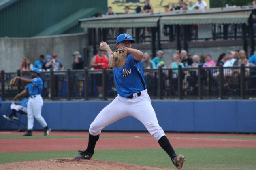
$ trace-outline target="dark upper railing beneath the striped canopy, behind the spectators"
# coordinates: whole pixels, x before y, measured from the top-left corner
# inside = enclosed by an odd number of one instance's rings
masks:
[[[177,34],[182,37],[183,28],[180,26],[181,32],[177,33],[177,25],[164,25],[160,26],[160,42],[174,42],[177,40]],[[253,24],[256,27],[256,23]],[[246,25],[248,29],[248,25]],[[100,30],[98,30],[100,31]],[[242,24],[211,24],[211,37],[208,38],[198,38],[198,25],[188,25],[186,27],[186,32],[188,32],[188,41],[205,41],[205,40],[234,40],[242,38]],[[96,44],[99,44],[102,39],[105,39],[109,44],[115,44],[116,37],[123,32],[131,34],[134,40],[140,44],[151,43],[152,28],[107,28],[105,29],[106,37],[104,34],[98,33],[98,38],[96,39]],[[254,37],[256,37],[256,29],[253,32]],[[249,34],[246,34],[249,38]],[[90,37],[92,39],[92,37]],[[90,41],[92,42],[92,40]],[[92,45],[92,44],[89,44]]]

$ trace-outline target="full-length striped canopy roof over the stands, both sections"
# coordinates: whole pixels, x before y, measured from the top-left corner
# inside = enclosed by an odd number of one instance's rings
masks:
[[[228,24],[248,23],[254,6],[235,8],[211,8],[208,10],[174,11],[169,14],[130,14],[111,15],[98,18],[80,19],[80,25],[86,28],[111,27],[156,27],[160,25],[188,24]]]

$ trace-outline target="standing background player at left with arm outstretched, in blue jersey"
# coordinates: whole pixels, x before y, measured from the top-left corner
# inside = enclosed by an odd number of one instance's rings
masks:
[[[23,136],[32,136],[32,129],[34,126],[34,117],[45,129],[44,135],[47,136],[51,132],[51,129],[47,126],[45,119],[41,115],[41,109],[43,106],[43,98],[41,97],[41,93],[43,90],[43,80],[39,77],[40,71],[37,68],[33,68],[31,72],[31,78],[22,78],[17,77],[23,82],[29,83],[25,90],[20,92],[14,97],[14,100],[17,100],[18,97],[29,94],[28,99],[28,132]]]

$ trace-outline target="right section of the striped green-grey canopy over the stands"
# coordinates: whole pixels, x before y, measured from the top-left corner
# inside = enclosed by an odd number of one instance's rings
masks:
[[[160,19],[161,25],[188,24],[241,24],[248,23],[252,11],[228,13],[196,13],[189,15],[169,15]]]

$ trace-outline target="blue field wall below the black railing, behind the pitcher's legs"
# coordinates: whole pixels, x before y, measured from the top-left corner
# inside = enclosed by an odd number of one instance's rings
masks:
[[[47,101],[42,115],[52,130],[88,130],[96,115],[111,101]],[[174,132],[256,132],[256,101],[151,101],[160,126]],[[10,113],[10,102],[0,110],[0,130],[15,129],[2,117]],[[113,110],[114,112],[115,110]],[[111,114],[111,113],[109,113]],[[26,122],[26,116],[21,116]],[[23,126],[24,127],[24,126]],[[43,129],[35,120],[34,129]],[[133,117],[123,118],[104,130],[145,131]]]

